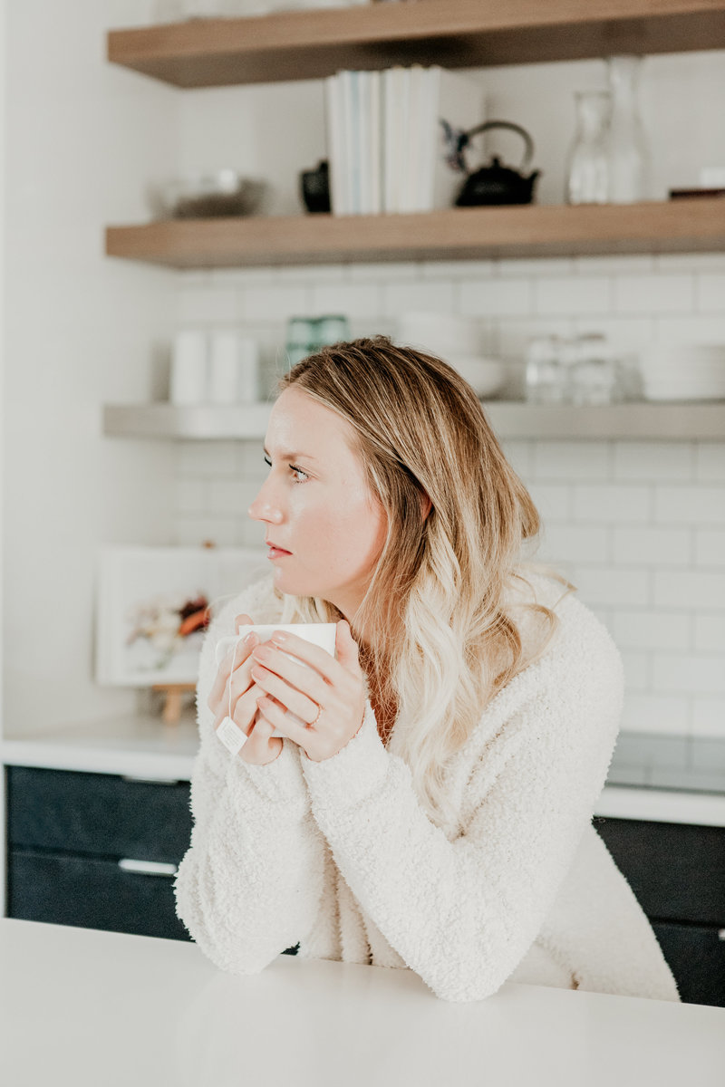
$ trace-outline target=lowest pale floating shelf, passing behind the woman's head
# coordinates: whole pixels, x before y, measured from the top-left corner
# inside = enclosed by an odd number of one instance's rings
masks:
[[[725,400],[601,408],[490,400],[484,407],[501,439],[717,441],[725,438]],[[114,438],[261,441],[271,410],[271,403],[229,408],[108,404],[103,409],[103,434]]]

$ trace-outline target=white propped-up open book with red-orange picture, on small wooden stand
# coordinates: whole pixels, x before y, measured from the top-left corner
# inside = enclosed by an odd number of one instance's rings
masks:
[[[221,607],[270,573],[263,548],[101,548],[96,608],[96,682],[114,687],[196,684],[205,599]],[[187,605],[187,630],[182,633]],[[174,624],[176,623],[176,629]]]

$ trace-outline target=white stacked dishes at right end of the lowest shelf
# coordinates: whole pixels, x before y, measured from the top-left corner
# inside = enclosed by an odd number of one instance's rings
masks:
[[[725,343],[654,345],[641,370],[647,400],[725,399]]]

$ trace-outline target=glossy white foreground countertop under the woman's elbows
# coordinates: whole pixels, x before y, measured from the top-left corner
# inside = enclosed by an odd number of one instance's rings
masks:
[[[725,1010],[505,983],[438,1000],[412,971],[0,920],[12,1087],[722,1087]],[[697,1071],[696,1071],[697,1070]]]

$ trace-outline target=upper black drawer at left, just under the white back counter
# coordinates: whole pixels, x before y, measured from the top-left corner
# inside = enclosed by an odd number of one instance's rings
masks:
[[[189,847],[189,783],[8,766],[9,846],[178,863]]]

